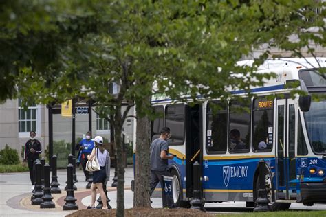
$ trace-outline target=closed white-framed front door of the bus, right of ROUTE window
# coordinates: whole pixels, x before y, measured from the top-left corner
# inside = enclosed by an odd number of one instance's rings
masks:
[[[296,196],[294,100],[277,100],[276,119],[276,199],[293,200]]]

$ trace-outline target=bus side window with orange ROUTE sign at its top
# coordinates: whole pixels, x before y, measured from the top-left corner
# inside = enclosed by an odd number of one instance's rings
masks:
[[[252,149],[254,152],[271,152],[273,148],[274,101],[254,99],[252,111]]]

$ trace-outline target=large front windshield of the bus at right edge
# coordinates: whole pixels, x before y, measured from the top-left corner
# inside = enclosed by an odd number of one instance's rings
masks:
[[[321,95],[320,95],[321,96]],[[326,154],[326,100],[312,102],[304,113],[307,132],[312,149],[316,154]]]

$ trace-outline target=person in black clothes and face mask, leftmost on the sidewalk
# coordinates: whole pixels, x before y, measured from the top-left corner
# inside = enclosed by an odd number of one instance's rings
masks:
[[[39,159],[39,155],[42,153],[41,142],[35,139],[35,131],[30,131],[30,139],[25,143],[25,152],[23,162],[27,161],[28,170],[30,170],[30,182],[32,183],[31,190],[34,190],[34,162]]]

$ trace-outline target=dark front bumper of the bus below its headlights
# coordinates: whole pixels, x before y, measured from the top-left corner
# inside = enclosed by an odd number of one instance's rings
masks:
[[[303,203],[326,203],[326,182],[301,183],[301,198]]]

